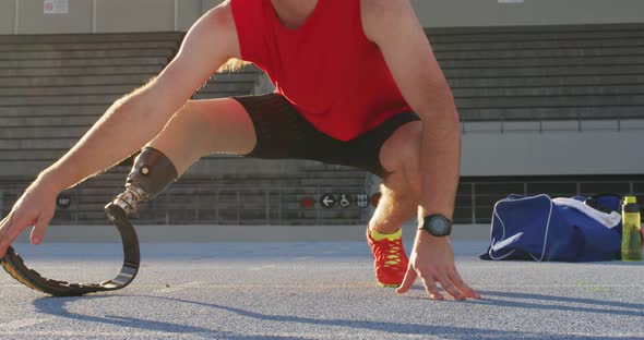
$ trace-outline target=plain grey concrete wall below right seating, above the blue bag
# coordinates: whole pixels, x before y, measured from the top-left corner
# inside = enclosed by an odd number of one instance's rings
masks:
[[[500,123],[466,123],[462,175],[581,175],[644,172],[644,120],[516,123],[500,132]],[[533,124],[529,131],[528,124]],[[612,126],[610,126],[612,124]],[[478,125],[478,126],[476,126]],[[469,127],[468,127],[469,126]],[[478,129],[478,130],[476,130]]]

